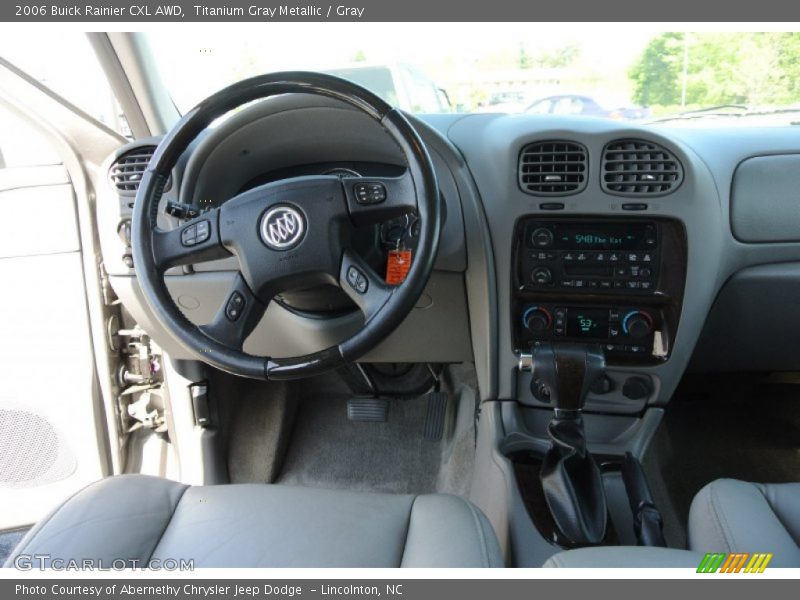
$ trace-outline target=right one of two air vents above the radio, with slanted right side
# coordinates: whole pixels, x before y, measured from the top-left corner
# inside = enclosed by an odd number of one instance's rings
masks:
[[[603,150],[601,184],[618,196],[658,196],[675,191],[683,168],[666,148],[645,140],[616,140]]]

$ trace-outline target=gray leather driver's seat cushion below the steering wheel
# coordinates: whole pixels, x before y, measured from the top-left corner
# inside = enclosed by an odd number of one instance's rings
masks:
[[[193,559],[195,567],[500,567],[491,525],[448,495],[280,485],[192,487],[123,475],[90,485],[37,524],[19,555]]]

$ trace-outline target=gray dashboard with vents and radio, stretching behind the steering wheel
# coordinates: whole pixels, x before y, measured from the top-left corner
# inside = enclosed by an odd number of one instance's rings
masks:
[[[792,341],[800,326],[800,234],[793,233],[800,211],[791,194],[800,135],[791,128],[492,114],[414,122],[439,180],[442,244],[418,306],[365,361],[474,362],[484,398],[536,405],[517,370],[520,354],[538,340],[597,343],[610,380],[587,408],[606,413],[666,402],[688,368],[800,365]],[[126,173],[135,175],[157,143],[138,140],[109,157],[109,185],[97,203],[111,285],[154,332],[126,250],[135,196]],[[398,149],[362,115],[333,100],[278,97],[195,142],[173,173],[159,219],[177,227],[169,202],[202,210],[286,177],[403,169]],[[398,237],[413,248],[414,223],[360,232],[359,251],[379,269]],[[194,322],[207,322],[219,306],[231,260],[169,273],[177,305]],[[278,300],[245,350],[303,354],[360,324],[335,288]],[[759,304],[766,310],[754,311]],[[775,350],[757,350],[765,343]],[[632,380],[644,384],[632,387]]]

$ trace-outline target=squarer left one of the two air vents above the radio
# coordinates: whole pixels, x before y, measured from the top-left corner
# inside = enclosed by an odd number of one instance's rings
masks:
[[[586,186],[586,148],[575,142],[528,144],[519,155],[519,186],[539,196],[575,194]]]

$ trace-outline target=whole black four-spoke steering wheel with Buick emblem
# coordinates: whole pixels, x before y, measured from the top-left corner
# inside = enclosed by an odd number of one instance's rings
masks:
[[[215,119],[278,94],[335,98],[376,120],[405,156],[397,177],[305,176],[247,190],[176,229],[156,224],[164,187],[189,144]],[[255,379],[296,379],[357,360],[386,338],[416,304],[439,246],[440,203],[433,165],[409,121],[375,94],[318,73],[287,72],[235,83],[189,111],[159,144],[136,195],[131,245],[136,276],[157,321],[197,359]],[[356,254],[355,227],[416,213],[419,238],[404,282],[391,286]],[[211,323],[196,326],[178,309],[167,269],[233,255],[239,271]],[[364,317],[343,342],[305,356],[258,357],[242,350],[279,293],[338,285]]]

